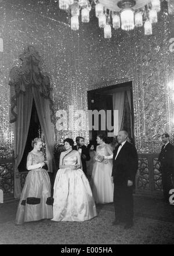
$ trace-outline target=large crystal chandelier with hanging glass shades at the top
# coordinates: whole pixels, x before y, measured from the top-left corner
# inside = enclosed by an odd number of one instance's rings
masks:
[[[59,0],[59,8],[71,13],[71,29],[79,29],[89,22],[89,13],[95,8],[99,27],[104,30],[104,38],[111,38],[111,27],[126,31],[144,26],[144,34],[151,35],[153,24],[158,22],[158,12],[164,0]],[[168,2],[169,15],[174,14],[174,0]]]

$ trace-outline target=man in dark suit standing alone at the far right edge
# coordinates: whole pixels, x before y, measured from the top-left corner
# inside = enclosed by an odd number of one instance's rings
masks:
[[[169,202],[169,190],[172,189],[172,176],[174,174],[174,147],[169,143],[169,134],[162,134],[162,145],[158,161],[160,162],[160,172],[162,176],[162,187],[164,199]]]

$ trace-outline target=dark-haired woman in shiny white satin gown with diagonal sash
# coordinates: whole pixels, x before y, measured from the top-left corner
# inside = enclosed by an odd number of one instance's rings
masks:
[[[72,147],[71,138],[64,140],[59,170],[54,184],[52,221],[87,221],[97,216],[95,201],[87,177],[79,169],[81,157]]]

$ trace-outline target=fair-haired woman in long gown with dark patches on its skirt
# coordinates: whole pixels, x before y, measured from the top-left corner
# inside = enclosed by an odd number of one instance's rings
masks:
[[[32,147],[34,148],[27,157],[27,169],[30,172],[27,174],[17,208],[17,225],[53,218],[50,179],[48,172],[42,168],[45,162],[41,151],[41,138],[35,138]]]

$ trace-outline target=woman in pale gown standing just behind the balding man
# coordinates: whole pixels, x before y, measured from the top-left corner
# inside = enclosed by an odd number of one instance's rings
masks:
[[[108,144],[104,142],[104,136],[97,136],[96,162],[92,170],[92,193],[97,204],[113,202],[114,183],[112,175],[113,161],[100,159],[102,155],[113,155]]]

